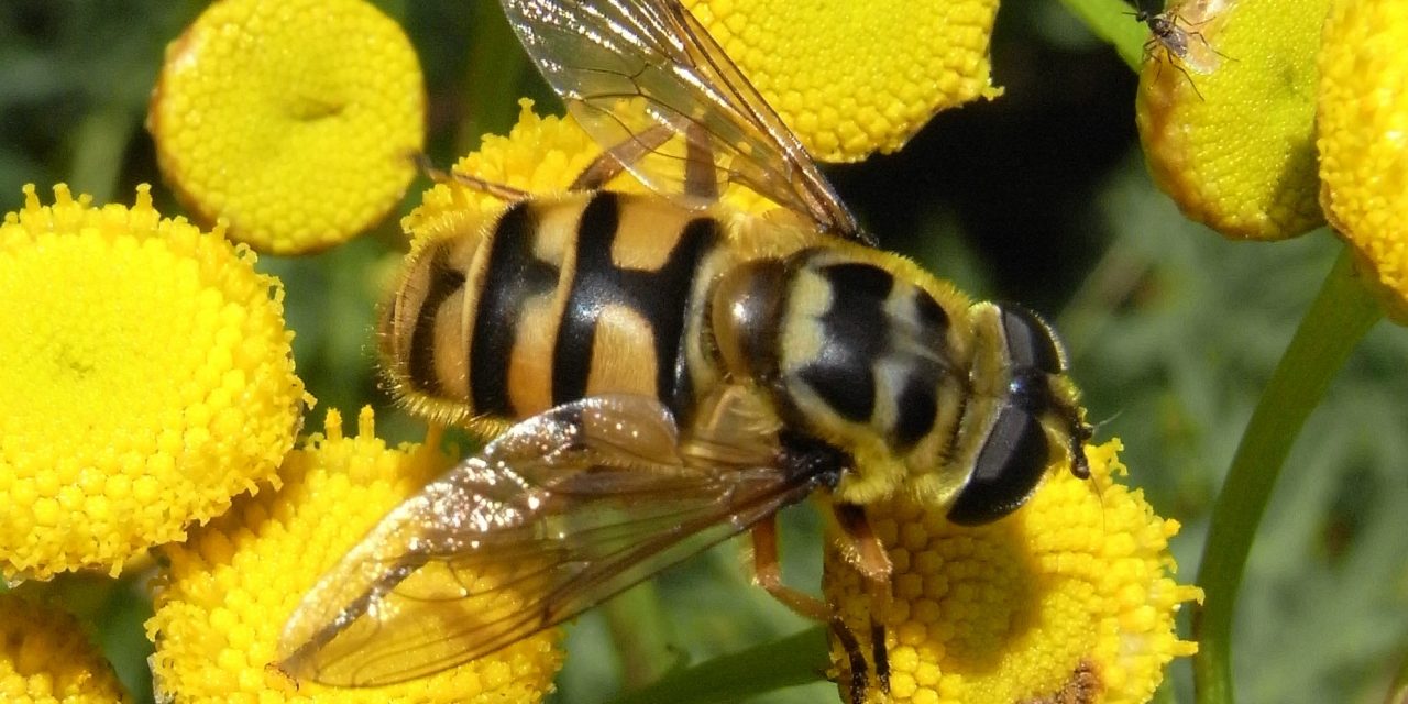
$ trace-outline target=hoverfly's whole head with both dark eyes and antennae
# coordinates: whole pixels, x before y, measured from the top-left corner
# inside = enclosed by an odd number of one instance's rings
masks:
[[[1046,321],[1012,304],[980,303],[972,313],[979,348],[959,431],[970,472],[948,514],[964,525],[1017,510],[1053,460],[1067,459],[1073,474],[1088,477],[1084,444],[1093,432]]]

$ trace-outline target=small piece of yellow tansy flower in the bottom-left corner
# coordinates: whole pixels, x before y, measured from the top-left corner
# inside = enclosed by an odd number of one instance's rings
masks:
[[[131,700],[72,615],[10,593],[0,594],[0,701]]]

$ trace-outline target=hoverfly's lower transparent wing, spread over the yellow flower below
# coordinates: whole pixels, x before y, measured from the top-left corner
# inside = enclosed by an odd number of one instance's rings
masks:
[[[777,445],[680,446],[658,401],[600,396],[513,427],[389,514],[284,627],[296,679],[379,686],[487,655],[805,497]],[[762,453],[769,455],[767,458]],[[708,459],[704,459],[708,458]]]

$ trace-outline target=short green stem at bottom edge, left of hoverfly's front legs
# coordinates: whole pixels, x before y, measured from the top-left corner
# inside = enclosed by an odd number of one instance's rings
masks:
[[[781,641],[676,670],[643,690],[618,698],[615,704],[742,701],[766,691],[817,681],[828,667],[831,659],[826,631],[815,627]]]

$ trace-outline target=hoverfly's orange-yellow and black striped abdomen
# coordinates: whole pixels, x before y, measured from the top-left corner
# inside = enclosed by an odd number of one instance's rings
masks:
[[[600,393],[687,408],[684,342],[698,337],[715,218],[596,191],[514,203],[470,230],[427,245],[386,311],[397,396],[448,422]]]

